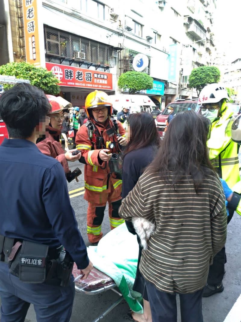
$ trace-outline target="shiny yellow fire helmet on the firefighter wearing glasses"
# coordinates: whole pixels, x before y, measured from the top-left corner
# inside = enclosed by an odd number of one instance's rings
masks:
[[[85,111],[88,118],[90,118],[90,109],[94,109],[100,105],[108,107],[108,115],[112,115],[112,104],[109,103],[108,95],[105,92],[95,90],[87,95],[85,99]]]

